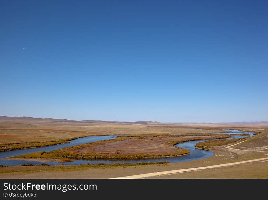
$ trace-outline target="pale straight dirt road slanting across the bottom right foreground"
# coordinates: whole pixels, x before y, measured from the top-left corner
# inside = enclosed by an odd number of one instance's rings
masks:
[[[225,163],[225,164],[220,164],[220,165],[211,165],[211,166],[206,166],[206,167],[195,167],[195,168],[180,169],[180,170],[160,171],[160,172],[154,172],[154,173],[148,173],[148,174],[138,174],[138,175],[132,175],[132,176],[125,176],[125,177],[116,177],[116,179],[147,178],[147,177],[153,177],[153,176],[159,176],[159,175],[165,175],[165,174],[176,174],[176,173],[186,172],[186,171],[211,169],[211,168],[217,168],[217,167],[226,167],[226,166],[232,166],[232,165],[238,165],[238,164],[244,164],[244,163],[251,163],[251,162],[256,162],[256,161],[261,161],[261,160],[268,160],[268,157],[254,159],[254,160],[240,161],[240,162],[235,162],[235,163]]]

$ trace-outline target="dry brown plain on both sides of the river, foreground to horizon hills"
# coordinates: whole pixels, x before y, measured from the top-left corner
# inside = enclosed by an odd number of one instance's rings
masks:
[[[197,139],[198,137],[205,137],[213,139],[216,135],[214,133],[219,133],[217,135],[226,133],[226,131],[223,131],[222,129],[254,132],[255,136],[252,138],[242,139],[241,141],[231,144],[210,146],[209,150],[212,151],[214,155],[201,160],[133,166],[5,166],[0,168],[0,178],[115,178],[163,171],[167,171],[167,173],[155,176],[145,175],[143,177],[268,178],[268,160],[265,160],[266,157],[268,159],[267,122],[179,124],[152,121],[73,121],[51,118],[37,119],[1,116],[0,149],[1,151],[6,151],[38,146],[49,146],[66,143],[74,138],[91,135],[128,135],[132,140],[127,138],[115,141],[117,143],[111,142],[108,143],[108,145],[102,144],[103,146],[97,146],[97,148],[90,146],[86,147],[87,150],[82,149],[81,152],[95,150],[96,152],[99,151],[99,153],[106,151],[108,153],[109,151],[115,153],[116,151],[113,152],[114,149],[120,150],[118,151],[119,155],[122,152],[133,153],[133,149],[135,150],[135,153],[160,153],[161,149],[166,152],[174,152],[174,147],[164,144],[174,140],[177,141],[178,138]],[[135,142],[133,143],[132,141]],[[234,145],[236,143],[239,144]],[[254,161],[239,163],[249,160]],[[215,168],[199,169],[199,167],[217,166],[226,163],[234,164]],[[179,173],[172,173],[172,170],[189,168],[193,170],[182,170],[182,172]]]

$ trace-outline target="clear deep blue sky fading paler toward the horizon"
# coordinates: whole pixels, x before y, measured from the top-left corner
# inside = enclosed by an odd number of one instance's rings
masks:
[[[268,121],[267,1],[1,1],[0,115]]]

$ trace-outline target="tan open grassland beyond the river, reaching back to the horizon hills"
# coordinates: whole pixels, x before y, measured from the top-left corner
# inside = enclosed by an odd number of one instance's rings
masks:
[[[243,129],[244,131],[258,133],[262,132],[267,126],[208,123],[172,124],[152,121],[135,123],[91,120],[73,121],[0,116],[0,144],[43,142],[43,145],[45,145],[46,142],[64,141],[89,135],[224,133],[223,128]],[[49,143],[47,144],[49,145]],[[35,145],[33,144],[33,146]],[[25,148],[29,148],[27,146]],[[20,145],[19,148],[22,149],[23,145]]]

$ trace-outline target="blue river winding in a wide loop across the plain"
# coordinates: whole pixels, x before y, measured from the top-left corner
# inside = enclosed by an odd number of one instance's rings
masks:
[[[254,136],[252,132],[242,132],[242,131],[237,131],[237,130],[230,130],[230,129],[223,129],[224,131],[231,131],[226,134],[239,134],[239,133],[247,133],[251,137]],[[38,164],[40,165],[41,163],[48,163],[49,165],[59,165],[60,162],[40,162],[40,161],[26,161],[26,160],[5,160],[3,158],[6,157],[11,157],[11,156],[18,156],[18,155],[23,155],[27,153],[35,153],[35,152],[40,152],[40,151],[52,151],[56,149],[62,149],[64,147],[69,147],[69,146],[75,146],[75,145],[81,145],[85,144],[88,142],[97,142],[100,140],[108,140],[108,139],[113,139],[116,138],[116,135],[99,135],[99,136],[88,136],[88,137],[83,137],[83,138],[78,138],[75,140],[72,140],[70,143],[65,143],[65,144],[59,144],[59,145],[53,145],[53,146],[45,146],[45,147],[37,147],[37,148],[32,148],[32,149],[21,149],[21,150],[13,150],[13,151],[5,151],[5,152],[0,152],[0,164],[1,165],[12,165],[12,166],[17,166],[23,163],[32,163],[33,165]],[[232,138],[243,138],[246,136],[233,136]],[[231,138],[230,138],[231,139]],[[196,140],[196,141],[189,141],[189,142],[183,142],[180,144],[177,144],[175,146],[182,147],[185,149],[188,149],[190,151],[190,154],[185,155],[185,156],[175,156],[175,157],[164,157],[164,158],[148,158],[148,159],[131,159],[131,160],[106,160],[106,159],[97,159],[97,160],[74,160],[71,162],[64,162],[64,165],[79,165],[79,164],[86,164],[86,163],[137,163],[137,162],[158,162],[158,161],[169,161],[170,163],[178,163],[178,162],[185,162],[185,161],[191,161],[191,160],[199,160],[199,159],[204,159],[208,158],[210,156],[213,156],[214,153],[211,151],[206,151],[203,149],[196,149],[195,145],[198,142],[203,142],[207,140]]]

